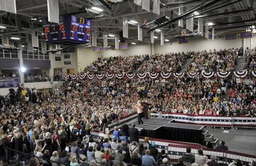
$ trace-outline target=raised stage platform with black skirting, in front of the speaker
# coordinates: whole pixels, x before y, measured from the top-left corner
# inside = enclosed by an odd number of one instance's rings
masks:
[[[137,119],[129,121],[129,127],[134,123],[140,131],[140,136],[148,136],[164,140],[185,141],[190,143],[205,143],[203,125],[179,124],[173,119],[151,118],[143,119],[144,125],[138,125]]]

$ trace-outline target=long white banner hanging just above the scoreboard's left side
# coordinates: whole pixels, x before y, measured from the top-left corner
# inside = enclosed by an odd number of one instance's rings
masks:
[[[59,23],[59,0],[47,0],[48,22]]]

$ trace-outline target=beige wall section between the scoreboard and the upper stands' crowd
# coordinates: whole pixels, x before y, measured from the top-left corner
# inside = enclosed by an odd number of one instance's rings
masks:
[[[77,48],[77,70],[83,71],[85,66],[90,65],[93,61],[98,60],[100,57],[99,52],[93,52],[92,48]]]

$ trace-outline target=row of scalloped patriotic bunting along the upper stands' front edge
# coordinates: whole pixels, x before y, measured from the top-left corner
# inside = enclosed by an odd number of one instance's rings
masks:
[[[216,72],[216,75],[220,78],[226,78],[229,76],[229,74],[233,73],[234,76],[236,76],[237,78],[244,78],[249,74],[249,71],[244,70],[244,71],[218,71]],[[144,79],[145,77],[150,77],[151,79],[156,79],[158,77],[163,77],[163,79],[169,79],[169,77],[171,77],[171,75],[173,74],[174,77],[183,77],[185,73],[121,73],[121,74],[69,74],[69,75],[63,75],[62,78],[64,80],[67,80],[69,78],[71,79],[77,79],[77,77],[79,79],[85,79],[85,77],[87,76],[88,79],[93,79],[96,75],[96,78],[98,79],[103,79],[104,77],[108,78],[108,79],[113,79],[113,77],[117,77],[118,79],[122,79],[124,76],[126,76],[128,79],[134,79],[135,76],[137,76],[139,79]],[[210,78],[215,76],[215,72],[207,72],[207,71],[202,71],[200,72],[194,72],[194,73],[186,73],[188,77],[190,78],[194,78],[197,77],[199,74],[201,74],[201,76],[205,77],[205,78]],[[256,71],[252,71],[252,75],[254,77],[256,77]]]

